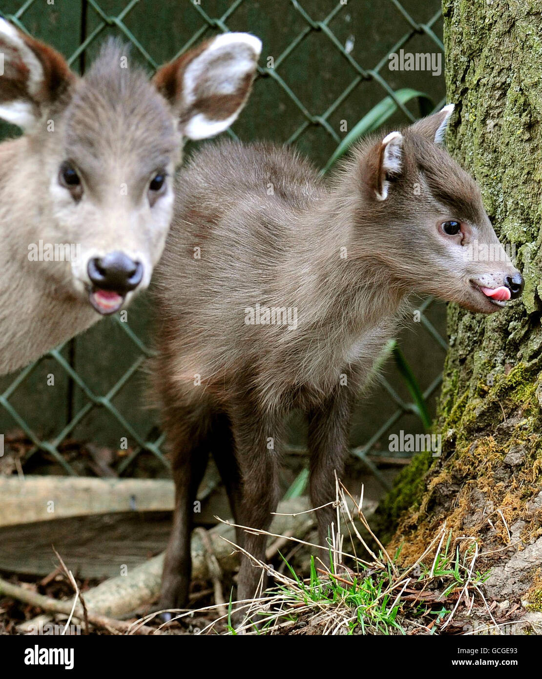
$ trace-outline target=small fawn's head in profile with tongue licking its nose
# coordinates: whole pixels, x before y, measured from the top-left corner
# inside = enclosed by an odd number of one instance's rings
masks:
[[[364,153],[360,233],[378,225],[374,257],[401,287],[491,313],[520,296],[523,279],[476,182],[440,148],[453,108],[391,132]]]

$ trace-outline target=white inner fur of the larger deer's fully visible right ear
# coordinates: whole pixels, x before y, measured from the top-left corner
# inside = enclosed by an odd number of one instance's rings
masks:
[[[248,49],[247,49],[248,48]],[[247,73],[253,73],[262,50],[262,43],[249,33],[225,33],[218,35],[187,67],[184,77],[183,96],[185,106],[197,100],[197,85],[206,87],[206,96],[234,96]],[[224,59],[217,59],[222,53]],[[239,109],[224,120],[211,120],[205,113],[197,113],[187,122],[183,134],[189,139],[206,139],[227,129],[235,120]]]

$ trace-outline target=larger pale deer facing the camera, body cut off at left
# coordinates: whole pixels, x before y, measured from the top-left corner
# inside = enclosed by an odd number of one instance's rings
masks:
[[[80,78],[0,20],[0,118],[24,130],[0,145],[0,373],[149,285],[182,136],[204,139],[235,120],[260,47],[246,33],[220,35],[149,82],[111,41]]]

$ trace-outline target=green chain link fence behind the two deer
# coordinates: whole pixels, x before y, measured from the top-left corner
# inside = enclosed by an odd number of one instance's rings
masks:
[[[390,124],[415,120],[419,111],[396,98],[399,88],[426,92],[435,108],[444,103],[442,73],[389,69],[389,55],[400,50],[442,55],[440,0],[0,0],[0,14],[52,43],[80,72],[106,35],[130,43],[134,58],[152,72],[217,33],[255,33],[264,48],[254,92],[229,134],[296,143],[322,165],[345,131],[385,96],[398,107]],[[429,401],[440,385],[446,351],[443,309],[431,299],[421,302],[417,332],[408,328],[401,339]],[[128,315],[128,323],[104,320],[0,381],[2,430],[24,432],[25,460],[41,451],[56,460],[60,473],[77,474],[63,446],[83,439],[122,448],[115,464],[119,475],[132,473],[142,454],[168,473],[155,414],[141,409],[140,368],[151,354],[144,301]],[[54,394],[47,386],[51,374]],[[353,454],[383,483],[376,462],[391,456],[386,437],[399,427],[419,430],[420,424],[417,406],[391,366],[360,405],[353,428]]]

